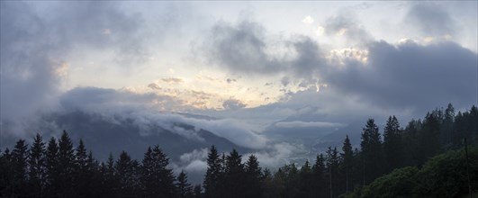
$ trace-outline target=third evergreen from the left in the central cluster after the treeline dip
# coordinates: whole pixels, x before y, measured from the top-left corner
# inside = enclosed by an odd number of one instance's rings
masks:
[[[260,197],[263,193],[262,170],[257,157],[250,155],[245,165],[246,168],[246,197]]]

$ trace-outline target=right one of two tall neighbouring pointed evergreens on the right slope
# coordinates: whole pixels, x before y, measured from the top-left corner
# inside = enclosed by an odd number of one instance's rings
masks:
[[[383,152],[387,162],[385,173],[392,171],[395,167],[401,167],[403,162],[401,148],[400,123],[393,115],[393,117],[388,117],[383,130]]]

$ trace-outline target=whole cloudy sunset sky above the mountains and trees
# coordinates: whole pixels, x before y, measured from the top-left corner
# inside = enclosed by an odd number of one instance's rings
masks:
[[[0,5],[3,133],[45,112],[182,112],[243,128],[222,135],[256,148],[273,123],[408,121],[478,103],[476,1]]]

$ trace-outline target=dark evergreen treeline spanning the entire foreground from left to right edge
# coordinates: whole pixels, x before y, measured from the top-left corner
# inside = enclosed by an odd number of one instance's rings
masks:
[[[74,148],[64,131],[59,139],[43,142],[37,135],[31,147],[20,139],[12,151],[5,149],[0,156],[0,196],[234,198],[338,197],[347,193],[357,197],[380,192],[370,186],[381,186],[382,183],[375,184],[375,178],[393,169],[392,175],[401,175],[399,178],[414,175],[428,158],[463,147],[464,138],[470,145],[478,144],[478,109],[473,106],[455,114],[448,104],[446,110],[428,112],[423,120],[412,120],[405,128],[395,116],[389,117],[383,138],[374,120],[369,119],[362,131],[360,148],[352,148],[346,137],[341,148],[329,148],[312,163],[284,165],[275,172],[262,169],[254,155],[242,162],[235,149],[226,155],[212,146],[203,186],[193,186],[185,172],[173,174],[168,157],[158,146],[148,148],[141,162],[123,151],[116,160],[110,155],[100,163],[91,152],[87,153],[81,139]],[[406,174],[396,174],[397,171]],[[473,176],[476,183],[478,175]],[[463,188],[458,189],[455,194],[463,194]],[[414,193],[419,194],[420,190]]]

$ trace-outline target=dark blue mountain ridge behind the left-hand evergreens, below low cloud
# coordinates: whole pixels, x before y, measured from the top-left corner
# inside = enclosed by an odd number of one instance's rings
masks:
[[[173,160],[194,149],[210,148],[212,145],[221,151],[229,151],[231,148],[248,151],[248,148],[236,145],[229,139],[219,137],[209,130],[197,129],[188,123],[172,123],[174,129],[166,129],[158,123],[148,126],[149,130],[144,131],[129,118],[112,119],[81,111],[52,113],[42,119],[43,123],[55,125],[41,126],[44,139],[50,139],[60,132],[53,130],[67,130],[75,145],[79,139],[83,139],[86,148],[91,149],[100,161],[104,161],[110,152],[113,157],[117,157],[122,150],[140,160],[147,148],[154,145],[159,145]],[[174,130],[188,131],[196,138],[187,138],[180,131]]]

